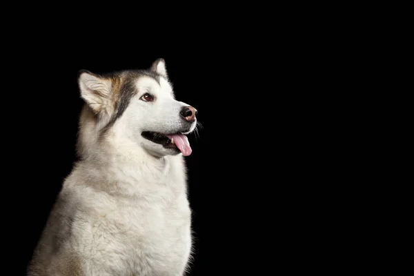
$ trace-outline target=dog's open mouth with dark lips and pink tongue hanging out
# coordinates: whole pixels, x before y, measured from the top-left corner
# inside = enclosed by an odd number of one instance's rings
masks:
[[[181,132],[175,134],[163,134],[153,131],[144,131],[141,133],[141,136],[155,144],[164,146],[164,148],[180,150],[184,156],[190,155],[193,151],[188,142],[188,138]]]

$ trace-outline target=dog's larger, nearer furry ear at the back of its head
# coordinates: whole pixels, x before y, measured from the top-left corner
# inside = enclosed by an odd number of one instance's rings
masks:
[[[103,79],[87,70],[83,70],[80,72],[78,83],[81,98],[96,115],[102,112],[107,115],[112,114],[114,103],[111,92],[112,81],[110,79]]]

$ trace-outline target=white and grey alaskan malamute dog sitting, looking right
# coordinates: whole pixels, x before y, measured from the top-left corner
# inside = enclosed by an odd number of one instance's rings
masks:
[[[79,90],[79,161],[28,275],[184,275],[192,236],[183,156],[197,110],[175,99],[164,59],[148,70],[80,72]]]

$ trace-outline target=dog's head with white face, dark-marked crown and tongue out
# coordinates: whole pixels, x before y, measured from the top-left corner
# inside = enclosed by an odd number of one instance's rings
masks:
[[[197,110],[175,99],[164,59],[148,70],[101,76],[83,71],[79,88],[87,106],[81,119],[83,144],[91,144],[90,136],[106,135],[114,146],[141,146],[157,157],[190,155],[186,135],[196,127]]]

